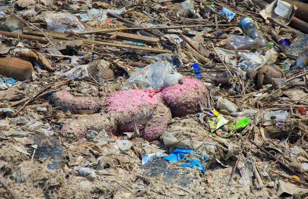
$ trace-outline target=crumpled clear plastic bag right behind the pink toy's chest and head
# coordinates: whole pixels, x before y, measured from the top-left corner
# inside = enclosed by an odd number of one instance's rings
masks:
[[[140,69],[133,73],[126,82],[123,83],[123,88],[141,88],[144,90],[158,89],[163,85],[165,77],[170,73],[175,73],[177,70],[167,61],[156,62]]]

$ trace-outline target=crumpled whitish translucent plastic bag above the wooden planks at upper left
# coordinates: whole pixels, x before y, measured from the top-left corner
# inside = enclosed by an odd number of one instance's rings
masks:
[[[86,26],[70,13],[44,12],[42,16],[46,20],[47,29],[51,31],[65,32],[74,30],[85,32],[87,30]]]

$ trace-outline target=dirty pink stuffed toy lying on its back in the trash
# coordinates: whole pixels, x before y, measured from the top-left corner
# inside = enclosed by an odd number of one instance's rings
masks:
[[[172,80],[173,81],[173,80]],[[53,94],[52,102],[63,111],[77,114],[94,110],[92,115],[78,115],[66,123],[63,136],[85,137],[87,131],[105,130],[113,135],[134,131],[135,124],[146,140],[158,139],[172,117],[197,113],[209,106],[209,92],[203,82],[179,76],[175,85],[165,81],[160,92],[140,89],[115,92],[102,98],[74,97],[69,92]]]

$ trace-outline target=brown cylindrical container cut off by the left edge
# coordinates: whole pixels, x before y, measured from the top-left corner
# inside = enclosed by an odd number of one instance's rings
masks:
[[[0,74],[24,81],[32,76],[33,66],[30,62],[18,58],[0,58]]]

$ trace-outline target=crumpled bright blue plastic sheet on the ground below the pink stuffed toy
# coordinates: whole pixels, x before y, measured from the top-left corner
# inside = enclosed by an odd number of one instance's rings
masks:
[[[182,167],[196,168],[202,171],[203,174],[205,172],[204,163],[209,161],[209,158],[201,151],[182,148],[177,148],[171,155],[164,157],[164,159],[171,162],[185,160],[185,163],[181,164]]]

